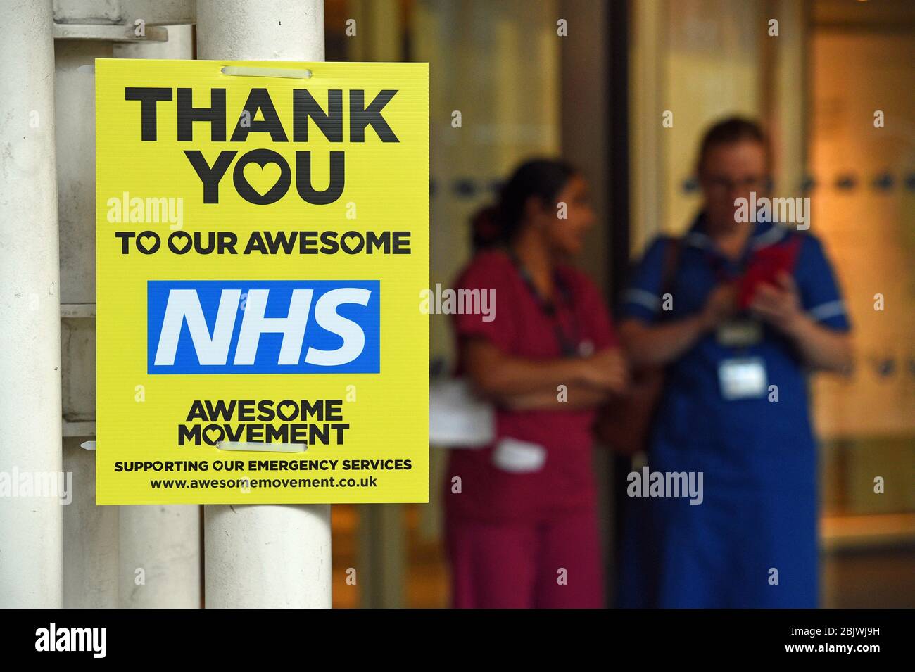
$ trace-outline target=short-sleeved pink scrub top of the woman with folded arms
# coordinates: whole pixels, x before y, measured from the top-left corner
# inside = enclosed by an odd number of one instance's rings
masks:
[[[487,322],[485,315],[455,315],[458,346],[468,338],[485,338],[512,357],[554,359],[563,357],[562,334],[582,355],[617,347],[607,306],[594,283],[570,266],[561,266],[556,273],[551,316],[505,251],[479,253],[461,274],[457,287],[480,292],[495,290],[494,319]],[[561,331],[557,331],[557,322]],[[458,374],[462,366],[458,359]],[[559,400],[554,410],[497,409],[495,441],[491,445],[450,451],[447,515],[478,520],[541,520],[564,510],[594,507],[591,452],[595,415],[594,410],[566,411]],[[505,437],[542,446],[543,466],[533,472],[516,473],[493,464],[494,446]],[[461,479],[460,494],[452,493],[454,476]]]

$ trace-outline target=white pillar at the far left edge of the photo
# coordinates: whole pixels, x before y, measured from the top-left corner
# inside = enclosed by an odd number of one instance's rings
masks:
[[[61,470],[53,26],[51,0],[0,3],[0,475],[7,478],[14,469],[33,477]],[[0,498],[0,607],[60,607],[62,521],[58,498]]]

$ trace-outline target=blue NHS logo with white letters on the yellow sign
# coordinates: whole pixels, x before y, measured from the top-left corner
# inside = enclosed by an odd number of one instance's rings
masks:
[[[150,280],[146,372],[378,373],[377,280]]]

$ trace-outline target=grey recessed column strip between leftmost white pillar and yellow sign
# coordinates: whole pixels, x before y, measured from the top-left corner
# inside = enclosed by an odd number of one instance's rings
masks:
[[[63,512],[63,608],[113,609],[118,508],[95,506],[95,451],[81,448],[95,438],[94,63],[112,58],[112,43],[58,37],[54,52],[63,466],[73,475],[73,501]]]

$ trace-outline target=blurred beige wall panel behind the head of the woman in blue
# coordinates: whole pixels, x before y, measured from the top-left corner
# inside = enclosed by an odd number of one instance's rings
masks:
[[[700,200],[684,191],[705,129],[730,114],[772,132],[776,178],[796,189],[802,145],[802,3],[638,0],[630,46],[631,251],[682,232]],[[769,21],[779,22],[770,37]],[[673,127],[662,126],[673,112]]]

